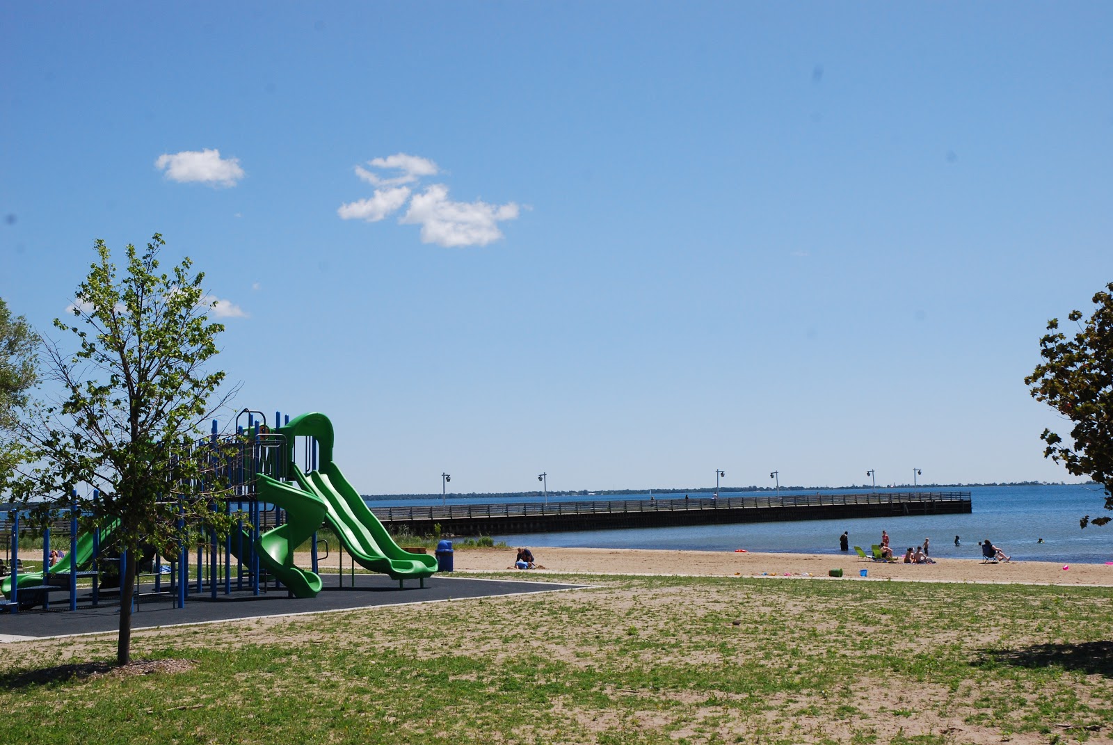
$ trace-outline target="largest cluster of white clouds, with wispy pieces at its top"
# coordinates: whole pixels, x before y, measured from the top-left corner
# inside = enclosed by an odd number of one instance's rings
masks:
[[[485,246],[503,237],[499,223],[516,219],[521,212],[518,204],[502,205],[486,202],[453,202],[449,187],[431,184],[415,193],[405,184],[416,184],[423,177],[441,173],[429,158],[397,153],[367,161],[373,169],[355,167],[355,175],[373,186],[374,194],[365,199],[342,204],[336,214],[342,219],[363,219],[377,223],[398,212],[408,202],[406,212],[398,218],[402,225],[421,225],[421,239],[445,247]],[[391,175],[393,174],[393,175]]]

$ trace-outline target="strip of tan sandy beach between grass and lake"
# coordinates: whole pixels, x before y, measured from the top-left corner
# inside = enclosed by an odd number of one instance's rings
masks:
[[[536,574],[590,572],[607,575],[676,575],[703,577],[823,577],[841,569],[844,581],[894,579],[942,582],[1089,585],[1113,587],[1113,566],[1061,565],[1045,561],[982,563],[974,559],[938,559],[936,563],[907,565],[863,561],[856,555],[752,553],[721,551],[667,551],[649,549],[535,548]],[[514,549],[456,549],[455,571],[505,570]],[[1064,568],[1066,567],[1066,568]],[[533,571],[522,571],[522,575]]]

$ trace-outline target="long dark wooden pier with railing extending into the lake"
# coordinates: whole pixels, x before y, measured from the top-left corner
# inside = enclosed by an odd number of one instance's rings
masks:
[[[969,511],[968,491],[372,508],[372,512],[387,529],[406,530],[415,536],[435,532],[434,526],[440,526],[442,533],[495,536],[782,520],[957,514]]]

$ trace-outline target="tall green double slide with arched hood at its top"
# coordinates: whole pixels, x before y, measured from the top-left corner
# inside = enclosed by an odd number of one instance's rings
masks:
[[[411,553],[400,548],[367,508],[363,497],[341,473],[333,462],[333,424],[327,416],[321,413],[302,414],[276,431],[286,435],[286,460],[302,487],[302,493],[312,493],[326,507],[325,520],[359,566],[398,580],[424,579],[436,572],[436,557]],[[317,440],[321,459],[319,469],[308,473],[302,472],[292,457],[294,438],[303,435]],[[314,529],[319,525],[318,518]]]

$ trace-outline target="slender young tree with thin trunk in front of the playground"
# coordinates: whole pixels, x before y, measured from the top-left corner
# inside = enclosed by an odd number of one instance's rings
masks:
[[[97,241],[97,261],[72,305],[77,322],[55,321],[76,335],[77,350],[45,345],[62,393],[26,428],[36,463],[24,472],[24,501],[69,507],[73,500],[93,523],[119,520],[115,546],[131,557],[120,576],[120,665],[130,660],[140,547],[161,547],[166,555],[178,538],[179,518],[224,527],[211,510],[221,484],[205,478],[206,461],[193,447],[201,423],[232,395],[210,404],[225,374],[204,370],[224,326],[209,323],[205,275],[191,273],[189,258],[159,272],[164,245],[158,234],[146,251],[129,245],[127,271],[119,276],[108,247]],[[78,484],[99,496],[71,498]]]

